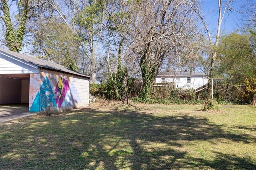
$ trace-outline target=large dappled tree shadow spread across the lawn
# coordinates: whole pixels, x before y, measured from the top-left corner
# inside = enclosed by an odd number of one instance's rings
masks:
[[[249,160],[222,153],[216,153],[218,159],[211,161],[187,158],[187,151],[182,150],[184,142],[225,139],[250,143],[255,140],[246,134],[226,132],[205,118],[158,117],[129,109],[88,108],[73,112],[52,117],[38,115],[38,119],[28,119],[8,128],[2,125],[1,166],[134,170],[196,166],[218,169],[223,168],[223,164],[235,168],[254,167]],[[229,156],[234,161],[228,159]]]

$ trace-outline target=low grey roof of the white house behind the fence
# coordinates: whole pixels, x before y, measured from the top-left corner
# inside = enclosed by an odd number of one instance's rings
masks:
[[[182,70],[171,70],[171,71],[163,71],[158,73],[158,77],[160,76],[191,76],[191,75],[206,75],[205,73],[199,73],[196,71],[190,71],[189,69]]]

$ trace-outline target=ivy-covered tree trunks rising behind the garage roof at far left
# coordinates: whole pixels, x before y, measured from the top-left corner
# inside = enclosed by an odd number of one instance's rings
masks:
[[[24,45],[28,21],[38,17],[40,11],[50,7],[46,5],[46,0],[1,0],[1,2],[0,22],[4,36],[2,42],[10,50],[19,52]],[[48,14],[50,15],[49,12]]]

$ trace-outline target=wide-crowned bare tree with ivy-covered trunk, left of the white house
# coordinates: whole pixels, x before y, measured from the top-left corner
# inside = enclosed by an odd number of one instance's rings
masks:
[[[127,44],[130,57],[139,65],[142,99],[150,97],[155,75],[168,55],[179,53],[192,38],[195,26],[189,1],[142,0],[128,7]]]

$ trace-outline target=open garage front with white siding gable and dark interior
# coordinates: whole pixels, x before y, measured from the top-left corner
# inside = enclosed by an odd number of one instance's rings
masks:
[[[2,90],[3,94],[2,94],[2,98],[0,96],[0,99],[2,101],[0,101],[0,105],[1,105],[1,112],[4,112],[4,115],[0,115],[1,119],[3,119],[3,117],[10,117],[10,119],[12,118],[18,118],[18,117],[23,117],[25,115],[28,115],[29,113],[29,79],[30,79],[30,74],[35,74],[35,73],[40,73],[40,68],[37,65],[34,65],[32,63],[23,61],[22,59],[19,59],[15,56],[9,55],[3,51],[0,51],[0,80],[2,82],[0,82],[0,86],[2,86],[2,89],[0,88],[0,90]],[[15,80],[16,79],[16,80]],[[8,80],[8,81],[6,81]],[[15,92],[12,93],[12,95],[7,96],[9,97],[8,101],[4,101],[6,100],[6,94],[10,94],[10,89],[8,89],[8,84],[6,82],[17,82],[19,80],[19,82],[21,82],[21,84],[26,84],[26,92],[22,93],[23,91],[20,92],[20,96],[22,96],[23,94],[26,94],[26,97],[22,97],[20,99],[20,104],[18,102],[16,102],[16,97],[13,97],[14,94],[16,94]],[[25,81],[26,80],[26,81]],[[5,85],[2,84],[5,82]],[[23,83],[26,82],[26,83]],[[6,87],[7,84],[7,87]],[[13,83],[10,83],[10,86],[12,86]],[[22,85],[19,86],[20,89],[22,89]],[[6,92],[6,90],[8,89],[9,92]],[[15,91],[16,89],[14,89]],[[6,93],[6,94],[4,94]],[[28,93],[28,94],[27,94]],[[3,99],[4,98],[4,99]],[[23,102],[22,100],[25,100],[26,102]],[[23,103],[23,104],[21,104]],[[26,104],[24,104],[26,103]],[[20,106],[19,106],[20,105]],[[17,107],[18,106],[18,107]],[[3,108],[8,108],[8,109],[4,109]],[[22,109],[17,109],[17,108],[22,108]],[[25,108],[25,110],[24,110]]]

